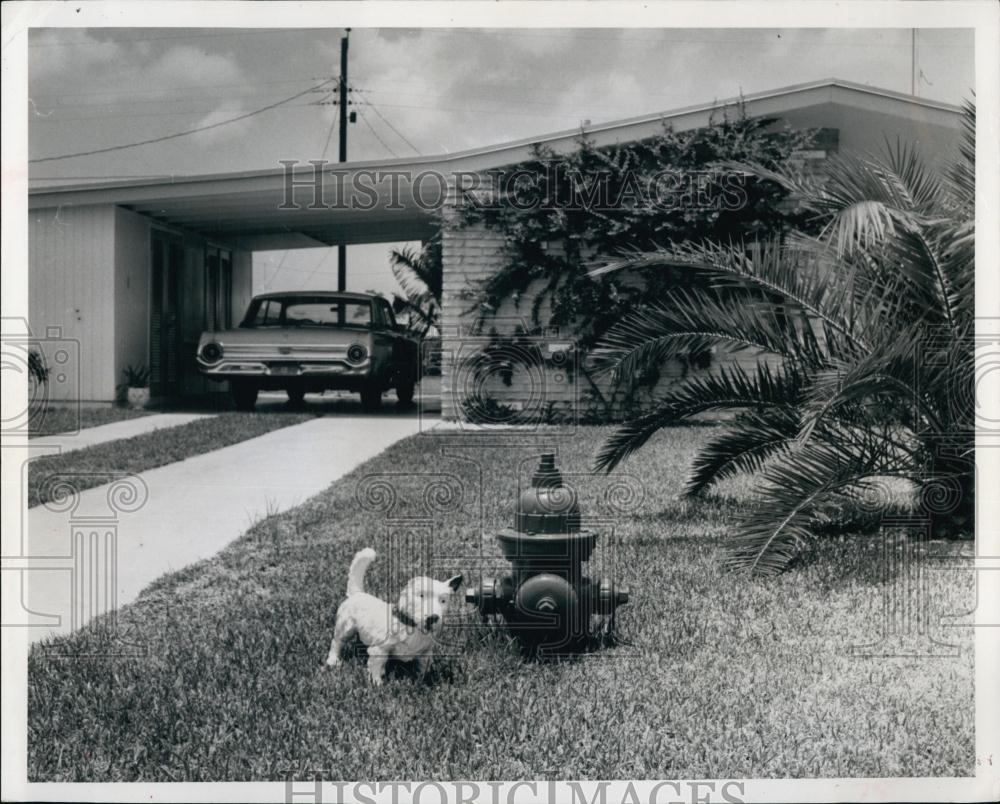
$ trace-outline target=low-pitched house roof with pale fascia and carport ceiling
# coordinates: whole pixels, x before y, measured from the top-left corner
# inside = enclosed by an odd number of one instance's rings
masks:
[[[903,117],[916,113],[927,123],[949,128],[957,127],[961,117],[957,106],[830,78],[457,153],[328,163],[319,173],[324,195],[318,205],[312,203],[315,190],[308,185],[316,175],[314,167],[305,163],[288,175],[278,167],[32,187],[29,208],[114,204],[165,225],[250,249],[421,240],[433,233],[435,214],[444,201],[445,188],[436,177],[449,180],[456,174],[516,164],[528,159],[536,145],[566,152],[576,147],[581,131],[604,146],[654,136],[665,123],[675,130],[699,128],[713,113],[741,102],[752,117],[781,117],[823,104]],[[291,199],[286,197],[289,178],[294,183]],[[343,187],[352,189],[341,192]]]

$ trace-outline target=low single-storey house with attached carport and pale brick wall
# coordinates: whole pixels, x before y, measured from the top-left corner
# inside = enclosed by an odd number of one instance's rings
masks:
[[[960,137],[957,107],[835,79],[742,101],[751,116],[833,132],[827,147],[840,151],[865,151],[885,137],[899,138],[916,144],[931,164],[944,164]],[[652,136],[664,122],[675,130],[697,128],[736,102],[605,123],[587,134],[607,145]],[[79,343],[78,361],[61,370],[65,382],[50,396],[110,402],[129,366],[150,368],[154,396],[211,390],[195,369],[198,335],[242,314],[253,293],[254,250],[424,239],[453,201],[456,185],[527,159],[535,143],[557,153],[572,149],[578,136],[577,130],[563,131],[416,159],[286,163],[253,173],[32,189],[29,323],[38,337]],[[449,389],[463,382],[457,367],[471,324],[464,291],[495,270],[501,246],[485,229],[445,230],[446,417],[458,415]],[[515,384],[510,393],[524,405],[533,392]]]

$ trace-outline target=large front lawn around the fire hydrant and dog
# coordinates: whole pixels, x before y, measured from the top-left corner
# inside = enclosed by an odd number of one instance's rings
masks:
[[[706,501],[677,498],[709,428],[663,431],[624,467],[645,480],[634,515],[608,507],[607,478],[573,478],[584,512],[614,521],[613,532],[602,526],[589,569],[631,587],[619,614],[628,644],[529,663],[458,602],[450,648],[428,682],[404,667],[372,688],[360,657],[323,669],[357,549],[379,550],[369,586],[395,597],[416,569],[410,559],[430,517],[427,538],[441,557],[435,576],[464,571],[468,581],[484,565],[488,575],[502,571],[490,534],[511,523],[514,478],[525,478],[531,457],[551,446],[565,473],[585,472],[602,435],[548,433],[503,448],[456,433],[407,439],[304,505],[257,523],[213,559],[148,588],[118,618],[121,638],[142,655],[102,656],[123,651],[101,627],[36,645],[29,778],[972,774],[971,629],[946,635],[957,658],[852,657],[850,645],[881,639],[888,591],[869,537],[828,540],[774,579],[720,571],[746,486],[730,484]],[[369,477],[378,474],[394,498]],[[460,495],[428,489],[434,480],[454,483],[445,475],[463,478]],[[395,571],[389,533],[403,551]],[[934,615],[972,608],[971,572],[928,575]]]

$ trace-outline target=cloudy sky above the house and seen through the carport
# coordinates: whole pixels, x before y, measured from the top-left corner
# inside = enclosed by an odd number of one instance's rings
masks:
[[[267,170],[337,157],[343,29],[39,28],[29,37],[31,158],[152,139],[277,108],[167,142],[31,166],[45,179]],[[915,39],[915,50],[914,50]],[[578,128],[585,121],[841,78],[960,103],[971,95],[963,29],[447,29],[350,33],[358,112],[350,160],[441,154]],[[914,62],[914,72],[911,65]],[[348,287],[394,288],[388,249],[348,250]],[[327,249],[259,252],[255,287],[332,287]]]

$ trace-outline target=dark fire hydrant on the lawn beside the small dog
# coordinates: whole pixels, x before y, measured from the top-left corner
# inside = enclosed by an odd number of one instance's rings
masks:
[[[597,537],[580,529],[576,492],[546,453],[518,500],[514,528],[496,535],[513,571],[470,587],[465,600],[484,620],[500,615],[528,651],[579,651],[591,636],[591,615],[605,615],[611,628],[615,610],[628,603],[628,591],[612,580],[583,575]]]

